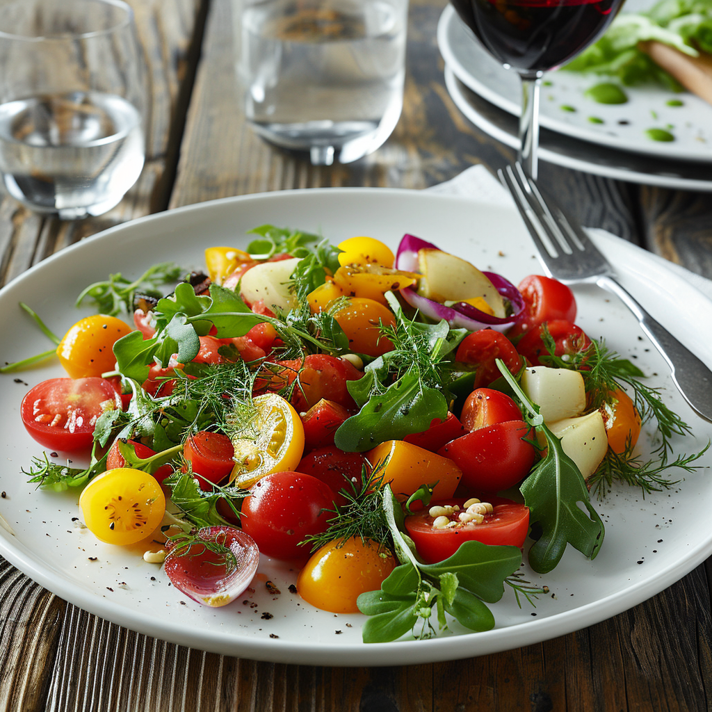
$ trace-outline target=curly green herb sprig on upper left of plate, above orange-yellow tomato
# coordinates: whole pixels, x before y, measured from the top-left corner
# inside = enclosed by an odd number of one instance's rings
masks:
[[[76,305],[89,300],[100,314],[115,316],[132,313],[135,293],[158,298],[158,287],[179,279],[185,271],[172,262],[162,262],[147,269],[138,279],[130,281],[121,273],[110,274],[108,280],[90,284],[77,297]]]

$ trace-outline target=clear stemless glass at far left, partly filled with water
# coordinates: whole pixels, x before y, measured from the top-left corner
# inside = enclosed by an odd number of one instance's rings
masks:
[[[0,172],[22,204],[100,215],[145,159],[145,72],[130,6],[21,0],[0,11]]]

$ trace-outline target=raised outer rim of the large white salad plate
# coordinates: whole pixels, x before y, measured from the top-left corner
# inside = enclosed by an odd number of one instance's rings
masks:
[[[454,201],[458,204],[467,206],[486,206],[488,209],[496,209],[497,211],[512,211],[514,208],[508,206],[492,206],[485,201],[471,199],[466,197],[446,196],[441,194],[425,194],[414,191],[412,189],[383,189],[383,188],[323,188],[323,189],[295,189],[289,191],[268,192],[251,194],[239,197],[228,197],[206,201],[199,204],[182,206],[177,209],[165,211],[150,216],[143,216],[134,221],[112,226],[111,228],[95,234],[83,241],[80,241],[68,248],[65,248],[46,260],[41,261],[35,266],[21,273],[11,280],[2,290],[0,295],[6,290],[13,288],[17,283],[26,281],[35,273],[41,270],[51,268],[55,261],[63,258],[66,254],[83,249],[83,246],[94,241],[105,241],[110,239],[112,235],[121,231],[132,231],[140,229],[142,226],[150,225],[156,221],[172,221],[179,219],[182,214],[189,212],[199,213],[201,211],[209,212],[216,207],[226,205],[239,205],[244,201],[256,200],[279,200],[284,194],[299,195],[313,197],[318,199],[326,194],[361,194],[361,195],[379,195],[380,197],[388,197],[389,195],[407,196],[409,199],[422,199],[425,195],[426,199],[433,203],[446,203]],[[618,240],[616,238],[612,238]],[[629,245],[625,241],[621,241],[621,246],[631,248],[633,251],[635,246]],[[639,255],[645,258],[645,253]],[[664,269],[664,266],[657,266],[658,269]],[[675,281],[681,281],[681,278],[674,273],[671,273]],[[684,283],[684,281],[681,281]],[[693,290],[706,300],[712,309],[712,301],[701,295],[693,286],[687,284],[686,287]],[[552,616],[531,620],[525,624],[515,624],[509,627],[493,629],[483,633],[461,634],[455,637],[441,637],[431,639],[429,641],[398,641],[392,643],[383,643],[377,645],[355,644],[344,646],[342,644],[327,644],[315,643],[310,644],[308,654],[305,654],[304,646],[290,642],[266,642],[263,639],[250,639],[248,637],[234,637],[230,641],[224,635],[218,635],[214,631],[201,632],[195,628],[177,630],[170,626],[168,622],[160,621],[159,619],[150,617],[149,614],[143,613],[137,609],[131,609],[131,615],[127,618],[127,609],[112,604],[110,599],[103,599],[91,592],[85,592],[82,589],[73,589],[70,581],[64,577],[52,575],[51,571],[43,570],[41,561],[33,552],[25,553],[19,545],[12,545],[11,534],[7,533],[4,528],[0,527],[0,554],[6,557],[19,570],[23,571],[37,581],[47,590],[56,595],[68,600],[85,609],[90,613],[98,615],[103,619],[107,619],[115,624],[127,627],[142,634],[147,634],[169,642],[192,646],[198,649],[212,651],[221,654],[237,655],[248,657],[256,660],[269,660],[278,663],[294,664],[295,660],[300,664],[315,664],[325,666],[388,666],[393,664],[394,654],[407,655],[407,661],[404,664],[423,664],[436,661],[461,659],[482,654],[490,654],[494,652],[504,651],[508,649],[519,648],[535,642],[543,642],[544,640],[558,637],[563,634],[574,632],[576,630],[595,624],[613,615],[619,614],[627,610],[649,597],[669,587],[672,583],[686,575],[700,562],[706,559],[712,553],[712,530],[706,535],[706,538],[699,540],[696,545],[686,551],[686,555],[671,565],[668,565],[661,572],[658,572],[654,578],[642,583],[637,583],[629,587],[623,592],[598,599],[596,601],[583,604],[572,610],[563,611]],[[481,642],[482,644],[478,644]]]

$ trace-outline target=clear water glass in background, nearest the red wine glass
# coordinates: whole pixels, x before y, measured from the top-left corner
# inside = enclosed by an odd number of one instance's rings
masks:
[[[350,163],[403,106],[408,0],[233,0],[236,69],[253,129],[315,165]]]

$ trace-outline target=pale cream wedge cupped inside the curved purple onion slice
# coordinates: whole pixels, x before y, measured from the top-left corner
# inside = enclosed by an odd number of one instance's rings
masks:
[[[459,302],[475,297],[483,298],[494,315],[506,315],[502,295],[486,276],[473,264],[459,257],[433,248],[418,251],[418,265],[422,278],[418,293],[435,302]]]

